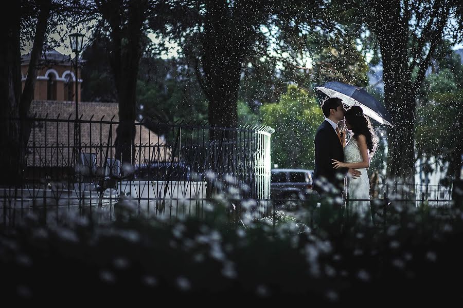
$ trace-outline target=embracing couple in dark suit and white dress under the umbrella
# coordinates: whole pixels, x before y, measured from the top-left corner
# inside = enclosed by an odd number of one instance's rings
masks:
[[[347,194],[352,214],[372,222],[367,168],[378,148],[375,130],[360,106],[344,108],[339,98],[322,104],[325,121],[315,133],[313,190],[341,209]],[[344,121],[345,120],[345,121]],[[343,123],[344,122],[344,123]],[[339,123],[343,123],[340,129]],[[346,143],[346,132],[349,140]]]

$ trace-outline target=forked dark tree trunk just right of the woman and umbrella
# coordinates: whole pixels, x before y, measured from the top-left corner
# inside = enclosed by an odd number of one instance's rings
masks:
[[[387,177],[394,185],[405,184],[405,191],[398,190],[399,196],[414,199],[417,93],[442,38],[450,7],[446,2],[433,4],[425,30],[421,31],[418,42],[412,44],[415,33],[409,32],[409,23],[413,17],[407,8],[402,10],[398,3],[384,6],[372,1],[366,11],[368,25],[380,45],[384,100],[395,126],[388,129]],[[416,76],[412,74],[415,69]]]

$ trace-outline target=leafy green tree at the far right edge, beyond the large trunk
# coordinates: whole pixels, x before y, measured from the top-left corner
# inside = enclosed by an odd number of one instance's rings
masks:
[[[446,171],[443,184],[460,176],[463,141],[463,67],[460,56],[450,46],[439,48],[434,73],[426,76],[420,91],[416,119],[417,159],[426,170],[433,170],[429,159],[435,158]]]

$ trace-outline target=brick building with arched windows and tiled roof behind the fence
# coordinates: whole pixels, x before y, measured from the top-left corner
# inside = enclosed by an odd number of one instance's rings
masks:
[[[22,88],[26,82],[30,54],[21,57]],[[35,81],[34,96],[29,115],[35,119],[29,136],[29,166],[46,167],[69,164],[72,154],[69,149],[74,145],[76,80],[78,82],[78,104],[80,141],[85,151],[97,152],[98,148],[110,144],[114,146],[119,121],[117,103],[81,102],[80,68],[75,75],[74,62],[64,54],[51,50],[42,54]],[[70,122],[62,122],[62,120]],[[170,149],[166,147],[164,137],[136,121],[135,143],[137,148],[136,164],[148,160],[170,159]]]

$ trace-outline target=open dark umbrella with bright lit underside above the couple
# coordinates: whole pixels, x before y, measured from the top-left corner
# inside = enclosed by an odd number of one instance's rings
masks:
[[[381,124],[393,127],[386,108],[361,87],[351,86],[339,81],[331,81],[315,87],[330,98],[339,98],[348,106],[360,106],[363,113]]]

